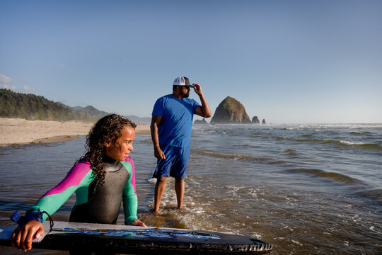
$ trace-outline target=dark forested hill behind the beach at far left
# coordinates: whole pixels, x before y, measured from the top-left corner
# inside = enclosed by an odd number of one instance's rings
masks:
[[[86,111],[91,108],[92,111]],[[82,110],[86,109],[86,110]],[[63,103],[47,100],[43,96],[16,93],[0,89],[0,118],[24,118],[27,120],[84,120],[94,122],[108,115],[93,106],[76,110]]]

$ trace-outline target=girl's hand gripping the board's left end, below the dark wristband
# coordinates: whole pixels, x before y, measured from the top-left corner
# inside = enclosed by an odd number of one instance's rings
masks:
[[[41,222],[30,220],[25,225],[16,227],[12,234],[11,244],[19,250],[30,250],[33,239],[40,238],[44,233],[44,226]]]

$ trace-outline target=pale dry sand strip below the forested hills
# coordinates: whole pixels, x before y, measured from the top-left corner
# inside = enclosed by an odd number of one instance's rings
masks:
[[[66,142],[87,135],[93,123],[81,121],[0,118],[0,146],[37,142]],[[149,135],[150,125],[137,125],[137,135]]]

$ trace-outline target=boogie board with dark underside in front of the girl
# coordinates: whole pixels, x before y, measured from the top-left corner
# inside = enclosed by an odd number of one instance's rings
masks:
[[[11,245],[15,228],[0,227],[0,245]],[[49,232],[49,221],[44,228],[45,235],[33,240],[33,248],[120,254],[265,254],[272,250],[272,245],[251,237],[204,230],[54,222]]]

